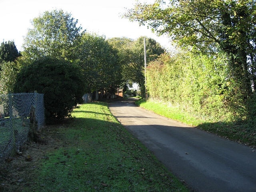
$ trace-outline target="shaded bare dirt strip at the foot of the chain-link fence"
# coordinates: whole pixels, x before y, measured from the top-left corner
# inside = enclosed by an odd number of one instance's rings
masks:
[[[47,152],[63,144],[58,129],[61,126],[44,126],[38,132],[38,142],[26,142],[21,153],[0,163],[0,192],[22,192],[24,186],[32,186],[39,161],[47,159]]]

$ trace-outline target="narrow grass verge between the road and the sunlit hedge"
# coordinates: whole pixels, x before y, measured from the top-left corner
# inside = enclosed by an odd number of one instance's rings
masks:
[[[256,121],[240,120],[234,122],[209,122],[197,119],[189,113],[182,112],[178,108],[168,104],[154,102],[150,100],[139,99],[137,106],[150,110],[161,116],[183,122],[190,126],[218,134],[229,140],[256,147]]]

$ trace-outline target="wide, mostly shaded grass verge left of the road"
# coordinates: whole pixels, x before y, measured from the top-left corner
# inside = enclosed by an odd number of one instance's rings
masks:
[[[55,130],[59,145],[44,153],[24,192],[187,192],[115,118],[104,102],[83,104]]]

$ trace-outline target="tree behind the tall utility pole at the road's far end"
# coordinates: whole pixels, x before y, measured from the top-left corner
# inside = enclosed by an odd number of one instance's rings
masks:
[[[145,38],[147,62],[156,59],[165,50],[156,40]],[[144,76],[144,37],[137,40],[128,38],[112,38],[110,44],[118,50],[122,65],[123,83],[134,82],[139,84],[142,96],[145,97],[145,76]],[[125,88],[125,86],[124,86]]]

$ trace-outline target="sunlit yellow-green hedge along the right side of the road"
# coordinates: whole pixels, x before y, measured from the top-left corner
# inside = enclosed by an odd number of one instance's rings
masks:
[[[163,54],[147,68],[150,98],[168,102],[205,120],[230,120],[243,115],[231,102],[234,86],[228,77],[228,64],[220,56]],[[239,98],[239,91],[237,94]]]

